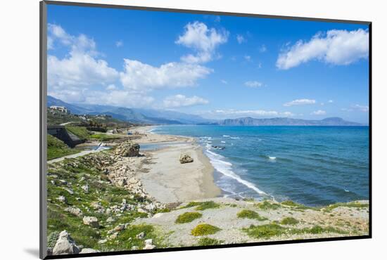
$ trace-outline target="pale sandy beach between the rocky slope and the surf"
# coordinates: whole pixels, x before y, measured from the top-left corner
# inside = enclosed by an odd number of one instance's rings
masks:
[[[146,192],[163,203],[189,202],[217,197],[221,194],[213,179],[214,168],[203,154],[202,148],[194,138],[149,133],[154,128],[141,126],[131,129],[137,131],[141,138],[136,142],[164,143],[159,150],[141,151],[146,155],[142,172],[137,178],[141,180]],[[181,164],[182,153],[190,155],[194,162]]]

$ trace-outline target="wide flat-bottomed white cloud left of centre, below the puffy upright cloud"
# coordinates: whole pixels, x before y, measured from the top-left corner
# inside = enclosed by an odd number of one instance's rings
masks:
[[[208,67],[189,63],[165,63],[153,67],[138,60],[124,59],[120,81],[126,89],[151,91],[160,88],[194,86],[212,72]]]

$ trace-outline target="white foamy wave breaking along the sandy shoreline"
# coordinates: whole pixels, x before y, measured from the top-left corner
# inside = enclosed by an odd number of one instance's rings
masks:
[[[208,158],[210,158],[210,162],[212,166],[217,171],[224,174],[225,176],[228,176],[229,178],[233,178],[235,181],[238,181],[239,183],[242,183],[244,186],[254,190],[256,193],[260,195],[267,195],[264,191],[257,188],[253,183],[250,183],[250,181],[243,180],[243,178],[235,174],[234,171],[232,171],[231,169],[231,166],[232,166],[231,163],[220,160],[224,158],[222,155],[218,155],[217,153],[212,152],[210,150],[206,150],[206,151],[208,153]]]

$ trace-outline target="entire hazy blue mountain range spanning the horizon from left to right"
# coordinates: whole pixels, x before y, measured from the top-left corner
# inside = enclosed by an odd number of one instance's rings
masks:
[[[63,100],[47,96],[47,107],[58,105],[68,108],[77,115],[111,115],[113,118],[138,124],[204,124],[225,126],[363,126],[356,122],[348,122],[341,117],[328,117],[322,120],[294,119],[274,117],[257,119],[240,117],[236,119],[205,119],[198,115],[190,115],[171,110],[154,110],[143,108],[123,108],[113,105],[70,104]]]

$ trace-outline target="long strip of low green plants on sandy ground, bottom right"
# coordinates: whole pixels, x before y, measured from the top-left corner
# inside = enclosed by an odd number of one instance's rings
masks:
[[[267,225],[254,226],[242,229],[252,238],[272,238],[279,235],[301,235],[301,234],[322,234],[322,233],[338,233],[347,234],[348,232],[334,228],[331,226],[313,226],[312,228],[285,228],[277,223],[270,223]]]

